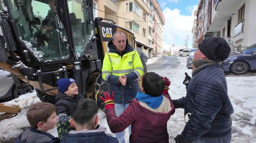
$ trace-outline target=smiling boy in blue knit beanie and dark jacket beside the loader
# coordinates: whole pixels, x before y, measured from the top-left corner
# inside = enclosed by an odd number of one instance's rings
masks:
[[[55,103],[56,114],[72,115],[75,104],[84,97],[78,93],[78,87],[73,78],[62,78],[57,81],[57,84],[59,91]]]

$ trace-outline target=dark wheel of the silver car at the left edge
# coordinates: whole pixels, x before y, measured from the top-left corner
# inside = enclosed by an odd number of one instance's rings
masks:
[[[27,94],[28,92],[31,93],[33,91],[32,86],[24,87],[26,85],[28,85],[28,84],[27,83],[21,83],[20,87],[13,86],[12,97],[13,98],[18,98],[19,96],[21,96],[23,94]]]

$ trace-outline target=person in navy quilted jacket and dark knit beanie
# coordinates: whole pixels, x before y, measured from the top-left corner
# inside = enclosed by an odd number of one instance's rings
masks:
[[[198,47],[187,94],[173,100],[175,108],[184,108],[186,122],[182,133],[174,140],[176,143],[230,143],[234,109],[221,68],[230,54],[230,47],[221,37],[208,37]]]

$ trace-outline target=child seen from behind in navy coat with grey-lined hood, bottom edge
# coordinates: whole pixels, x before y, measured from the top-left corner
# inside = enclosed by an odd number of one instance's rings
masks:
[[[107,128],[98,124],[98,105],[93,99],[81,99],[74,107],[70,131],[62,143],[119,143],[116,137],[108,136]]]

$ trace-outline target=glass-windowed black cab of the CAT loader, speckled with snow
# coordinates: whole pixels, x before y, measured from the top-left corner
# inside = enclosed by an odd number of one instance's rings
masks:
[[[10,51],[27,54],[28,65],[98,58],[92,0],[1,1],[15,33]]]

